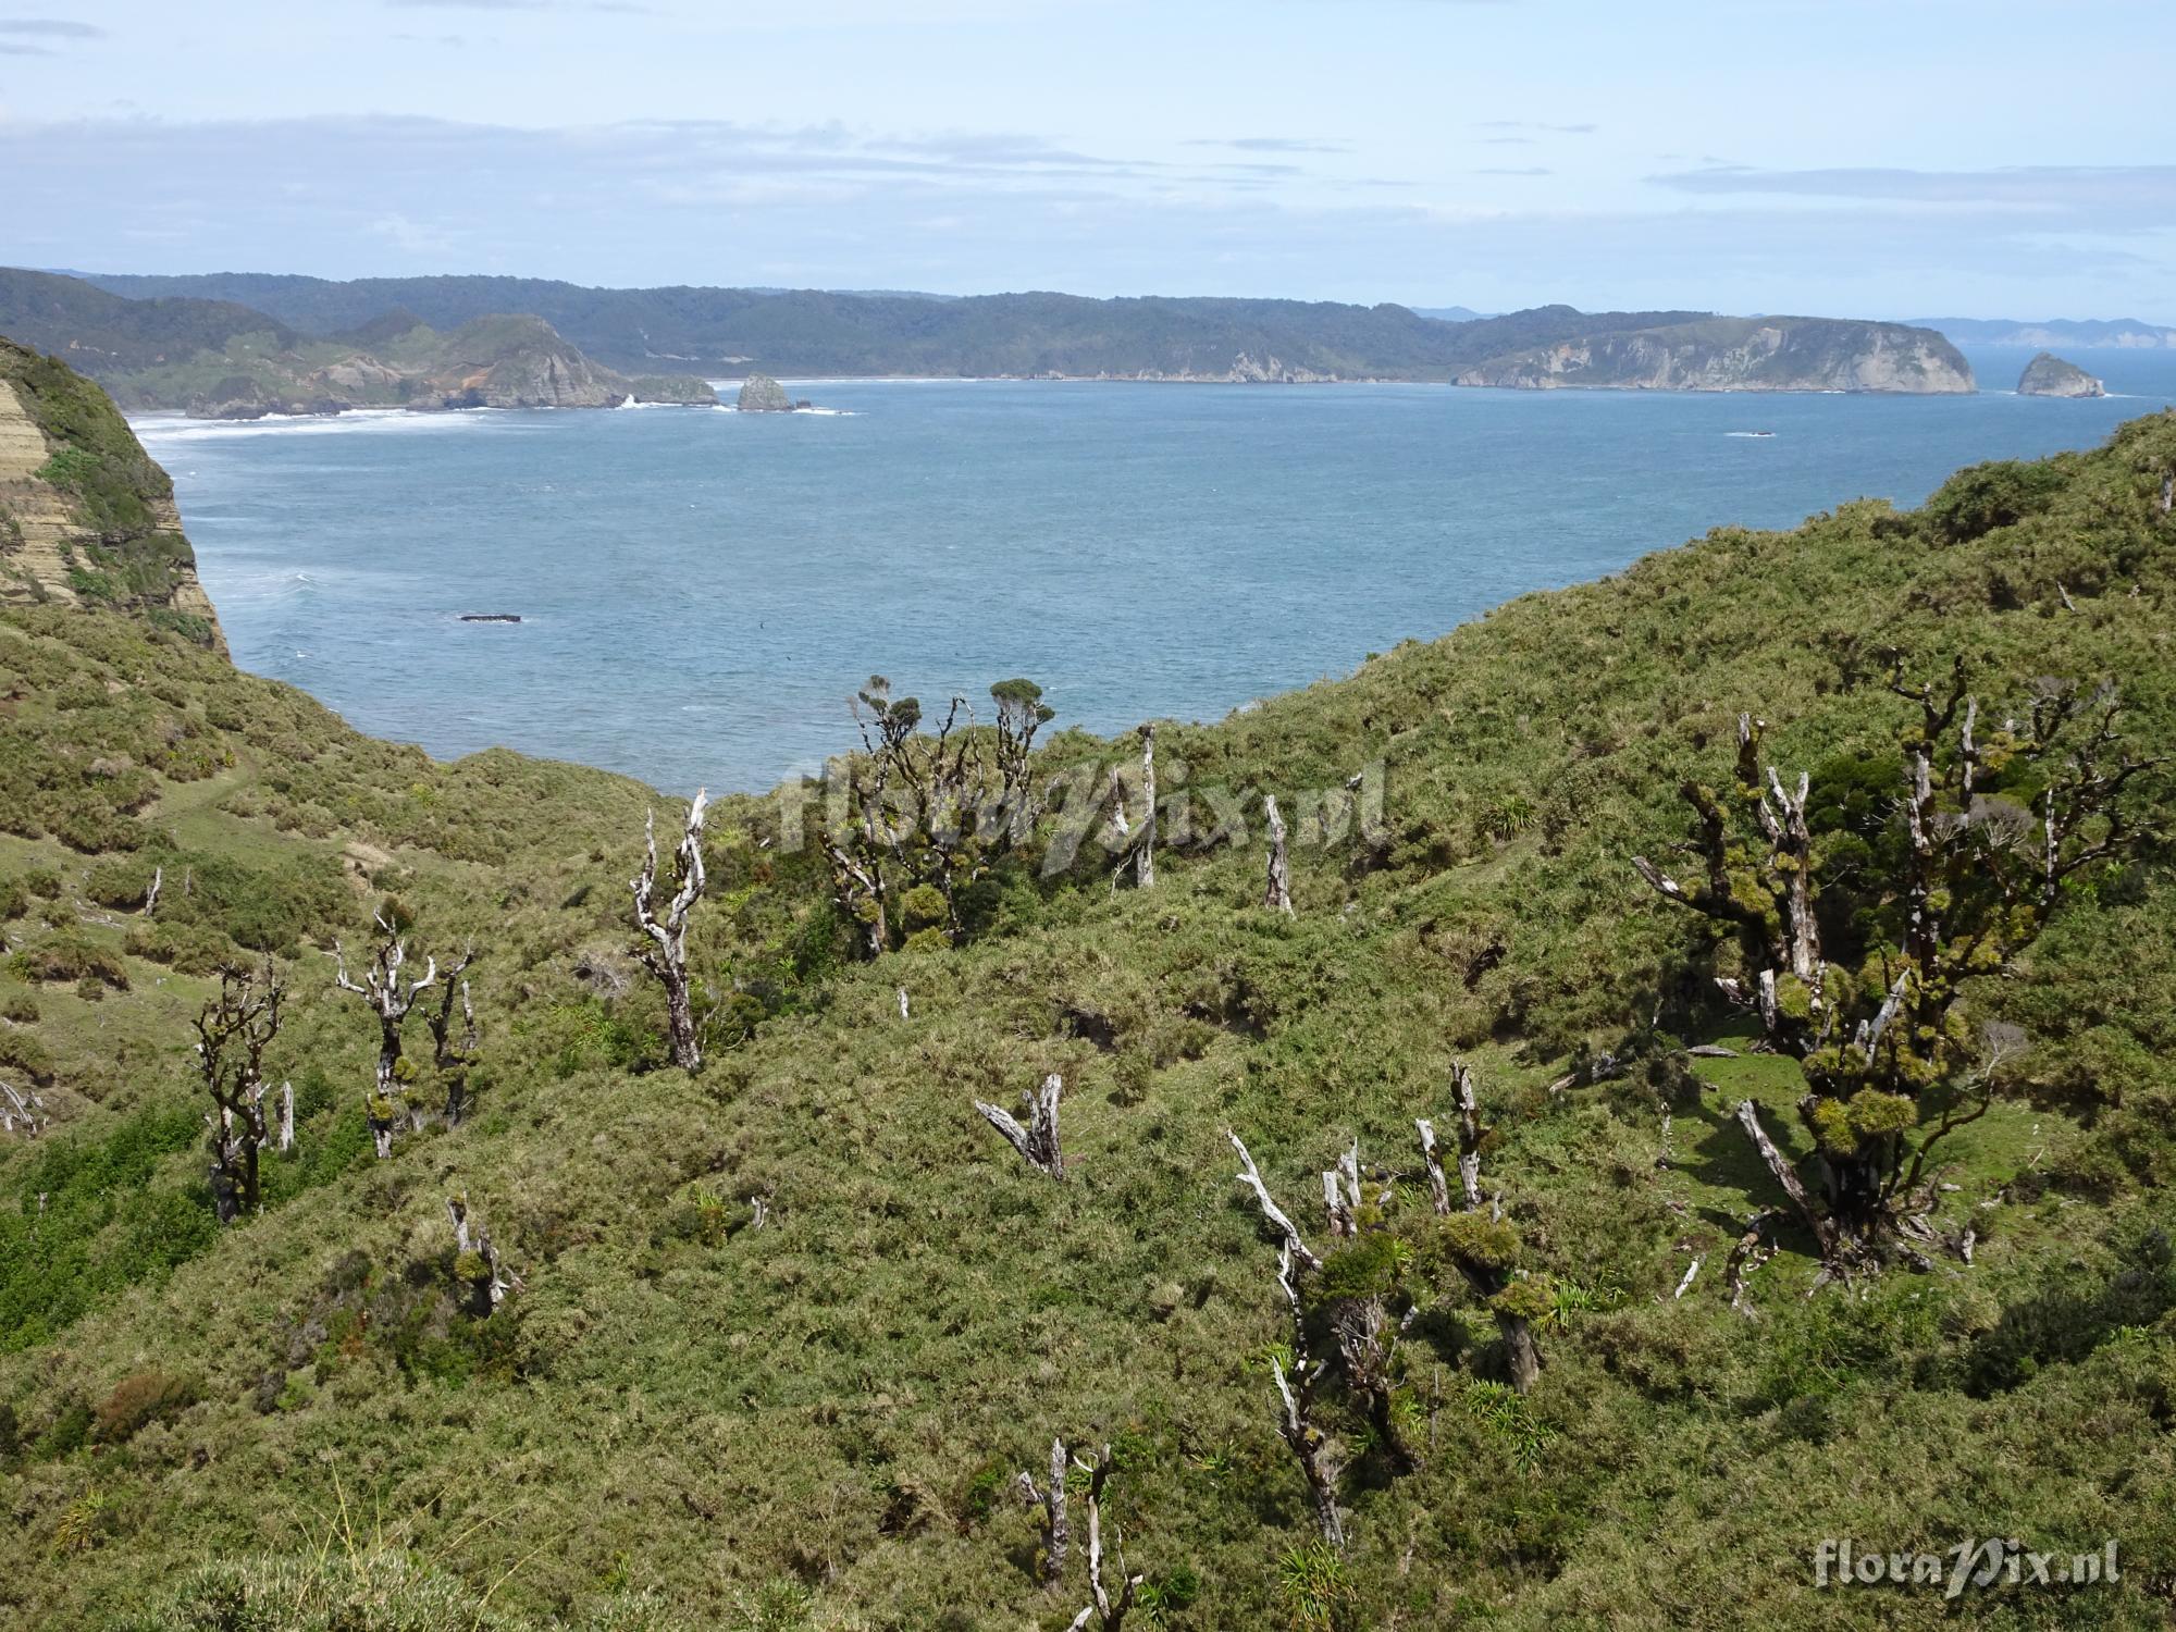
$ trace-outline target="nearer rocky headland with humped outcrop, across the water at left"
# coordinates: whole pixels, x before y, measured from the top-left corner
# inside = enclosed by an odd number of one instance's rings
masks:
[[[126,300],[78,279],[0,270],[0,333],[65,355],[124,409],[220,420],[718,400],[694,376],[603,368],[535,316],[481,313],[440,333],[390,311],[313,337],[233,302]]]

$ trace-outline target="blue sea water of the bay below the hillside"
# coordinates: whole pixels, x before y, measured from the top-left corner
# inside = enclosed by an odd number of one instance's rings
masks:
[[[2106,400],[1434,385],[796,383],[836,413],[646,407],[144,420],[235,659],[363,731],[692,790],[1029,675],[1062,722],[1219,718],[1723,522],[1791,527],[1956,466],[2093,446]],[[1756,437],[1752,431],[1773,435]],[[468,625],[461,614],[520,614]]]

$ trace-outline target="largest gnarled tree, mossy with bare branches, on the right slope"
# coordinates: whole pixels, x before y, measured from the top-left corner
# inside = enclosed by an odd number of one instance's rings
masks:
[[[2041,683],[2022,718],[1985,735],[1965,659],[1943,683],[1906,683],[1902,655],[1891,655],[1889,690],[1915,716],[1900,733],[1893,868],[1858,864],[1823,877],[1808,777],[1786,788],[1763,766],[1760,722],[1750,716],[1739,720],[1732,792],[1695,781],[1680,790],[1695,812],[1686,851],[1704,879],[1686,886],[1632,857],[1665,901],[1734,931],[1745,973],[1723,977],[1721,990],[1760,1016],[1771,1051],[1804,1066],[1797,1112],[1815,1142],[1810,1188],[1760,1132],[1750,1101],[1739,1123],[1806,1219],[1826,1275],[1880,1266],[1900,1253],[1900,1223],[1926,1214],[1932,1199],[1917,1186],[1928,1153],[1978,1121],[1993,1092],[1991,1071],[1969,1073],[1958,1001],[1974,977],[2006,970],[2039,938],[2089,868],[2148,838],[2128,794],[2161,764],[2122,749],[2113,688]],[[2039,792],[2030,803],[2006,796],[1995,768],[2013,786],[2028,772]],[[1847,890],[1850,916],[1893,936],[1856,977],[1832,977],[1821,957],[1823,888]]]

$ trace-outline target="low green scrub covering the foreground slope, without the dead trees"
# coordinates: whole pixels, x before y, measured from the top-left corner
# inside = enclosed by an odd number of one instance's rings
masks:
[[[1991,701],[2119,675],[2132,731],[2176,746],[2176,522],[2154,505],[2172,466],[2163,418],[2054,461],[2017,524],[1985,527],[1982,498],[2019,487],[1998,472],[1952,483],[1939,518],[1865,503],[1797,533],[1717,531],[1347,681],[1166,727],[1160,759],[1195,788],[1293,792],[1386,762],[1388,842],[1371,864],[1301,851],[1293,923],[1251,905],[1260,846],[1219,844],[1169,855],[1153,894],[1114,897],[1092,868],[1014,879],[966,949],[851,966],[807,860],[759,846],[759,812],[729,803],[698,947],[768,1018],[696,1079],[653,1068],[640,984],[590,992],[625,964],[644,790],[503,753],[433,766],[120,618],[7,614],[0,725],[70,799],[115,809],[89,840],[104,855],[37,820],[0,836],[0,910],[9,877],[57,890],[20,890],[0,929],[28,953],[0,1010],[39,1016],[0,1038],[44,1049],[65,1118],[0,1149],[0,1401],[24,1441],[0,1484],[0,1612],[118,1623],[207,1554],[311,1549],[346,1501],[477,1591],[503,1582],[494,1615],[633,1588],[668,1606],[659,1623],[712,1625],[803,1582],[818,1625],[1064,1625],[1079,1567],[1042,1595],[997,1493],[1062,1432],[1121,1443],[1136,1567],[1199,1578],[1171,1625],[1277,1625],[1279,1554],[1308,1519],[1251,1360],[1282,1336],[1273,1260],[1221,1129],[1319,1234],[1312,1175],[1351,1136],[1410,1166],[1410,1118],[1445,1114],[1447,1064],[1469,1058],[1528,1262],[1604,1308],[1545,1334],[1521,1425],[1469,1393],[1488,1321],[1445,1290],[1412,1349],[1430,1445],[1412,1478],[1384,1480],[1338,1406],[1349,1625],[1934,1625],[1939,1595],[1815,1599],[1810,1547],[1985,1534],[2065,1551],[2113,1534],[2130,1569],[2119,1588],[2000,1595],[1982,1623],[2159,1625],[2176,1580],[2163,860],[2106,879],[2028,979],[1978,999],[2041,1047],[1956,1140],[1950,1206],[1985,1236],[1971,1271],[1806,1299],[1810,1262],[1786,1251],[1754,1282],[1756,1319],[1732,1314],[1721,1256],[1771,1195],[1728,1103],[1763,1097],[1804,1149],[1793,1066],[1704,1062],[1667,1169],[1669,1066],[1545,1084],[1658,992],[1699,990],[1689,923],[1623,857],[1682,831],[1671,788],[1721,768],[1741,707],[1776,725],[1782,764],[1878,755],[1900,709],[1871,653],[1932,670],[1967,648]],[[1055,757],[1095,751],[1064,738]],[[89,775],[118,757],[148,779]],[[154,857],[172,912],[146,927],[128,901]],[[207,888],[176,903],[176,875]],[[479,936],[487,1079],[474,1121],[379,1164],[372,1027],[320,949],[385,890],[433,947]],[[302,1118],[265,1216],[218,1236],[183,1042],[228,936],[287,960],[274,1071]],[[24,981],[52,949],[72,977]],[[126,992],[74,979],[100,953]],[[1068,1084],[1064,1186],[968,1105],[1047,1068]],[[483,1327],[444,1308],[453,1190],[524,1277]],[[740,1210],[755,1192],[764,1229]],[[1706,1269],[1673,1301],[1691,1256]],[[72,1443],[139,1373],[194,1404]]]

